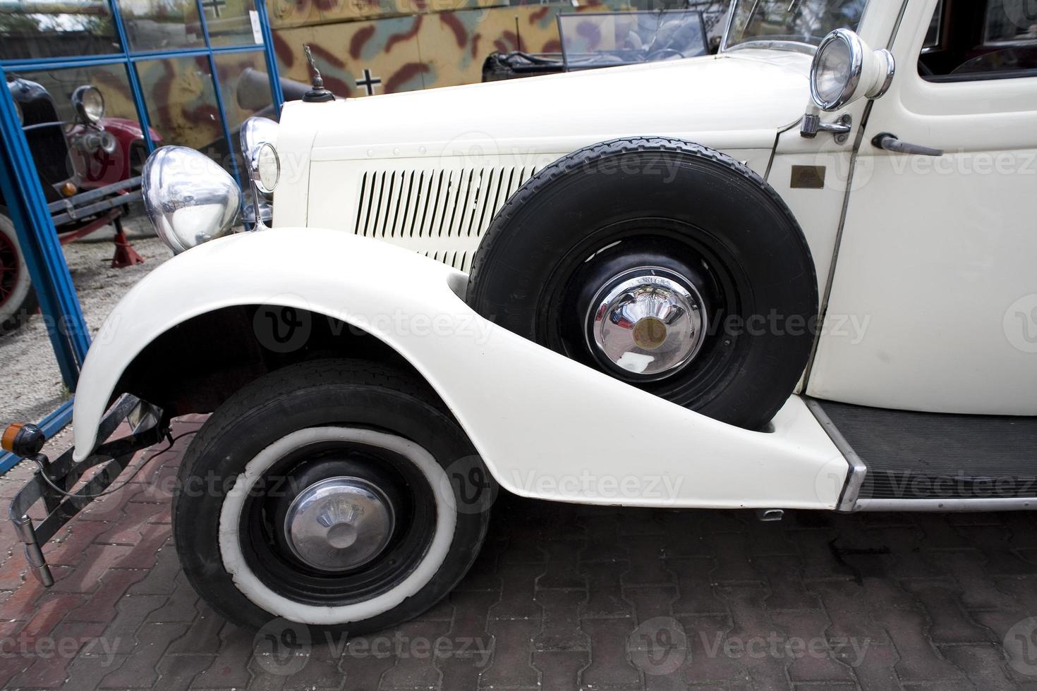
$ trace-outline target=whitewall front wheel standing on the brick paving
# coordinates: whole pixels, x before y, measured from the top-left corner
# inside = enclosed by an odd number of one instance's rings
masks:
[[[173,537],[195,589],[256,630],[375,631],[447,595],[485,536],[493,485],[424,382],[372,363],[269,374],[192,442]]]

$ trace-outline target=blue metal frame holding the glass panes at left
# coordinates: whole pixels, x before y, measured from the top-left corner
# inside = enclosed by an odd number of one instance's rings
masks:
[[[280,114],[283,93],[278,79],[277,59],[273,51],[273,34],[263,0],[255,1],[255,11],[263,41],[261,45],[213,46],[202,0],[195,0],[204,37],[204,47],[155,51],[132,50],[118,1],[107,0],[107,2],[112,13],[115,32],[122,47],[121,52],[79,57],[0,60],[0,77],[3,78],[4,84],[6,84],[7,73],[16,69],[25,71],[54,70],[121,64],[127,70],[127,79],[133,94],[137,118],[144,134],[145,146],[147,151],[151,152],[155,149],[155,142],[150,136],[150,118],[140,77],[137,73],[137,63],[144,60],[204,57],[212,74],[216,106],[220,113],[223,135],[229,148],[231,171],[241,184],[241,172],[244,169],[240,166],[236,143],[231,141],[216,59],[223,54],[262,51],[267,74],[270,78],[274,108]],[[3,192],[4,199],[7,200],[7,210],[18,232],[18,239],[25,255],[25,261],[46,320],[48,336],[54,348],[62,379],[68,390],[75,392],[79,372],[90,345],[89,329],[80,309],[79,298],[64,261],[57,231],[51,221],[47,199],[44,196],[25,134],[19,122],[13,99],[6,88],[0,89],[0,190]],[[46,424],[45,431],[50,435],[66,424],[71,414],[71,403],[65,403],[40,424]],[[9,455],[0,456],[0,472],[10,467],[13,460]]]

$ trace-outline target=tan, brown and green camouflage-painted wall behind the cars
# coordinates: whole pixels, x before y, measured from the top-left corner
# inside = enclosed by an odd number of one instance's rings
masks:
[[[520,0],[521,1],[521,0]],[[254,0],[202,0],[214,45],[255,45]],[[679,0],[565,0],[506,4],[508,0],[268,0],[274,51],[282,77],[308,83],[303,45],[313,50],[328,88],[365,96],[479,82],[494,51],[557,52],[560,12],[644,8]],[[714,0],[725,5],[723,0]],[[136,50],[204,45],[194,0],[121,0]],[[0,27],[2,28],[2,27]],[[261,52],[217,56],[221,96],[233,132],[269,107]],[[151,126],[165,144],[226,156],[216,90],[204,57],[136,63]],[[256,79],[256,73],[260,79]],[[243,77],[250,76],[247,86]],[[51,89],[71,119],[68,95],[80,84],[105,94],[110,116],[136,119],[122,65],[28,76]],[[236,146],[236,142],[230,142]]]

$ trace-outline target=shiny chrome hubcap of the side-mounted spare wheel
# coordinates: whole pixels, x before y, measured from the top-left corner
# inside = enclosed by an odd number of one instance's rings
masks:
[[[609,280],[590,304],[588,345],[638,380],[662,379],[688,365],[706,332],[704,301],[686,278],[657,266]]]

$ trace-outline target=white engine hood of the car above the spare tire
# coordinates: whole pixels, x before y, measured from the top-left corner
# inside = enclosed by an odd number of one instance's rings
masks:
[[[763,175],[776,134],[803,114],[809,67],[808,55],[744,50],[373,98],[286,104],[278,141],[286,160],[274,225],[355,231],[365,172],[532,171],[617,137],[695,141]],[[652,94],[650,107],[616,97],[632,82]],[[768,97],[761,99],[764,90]],[[485,114],[487,104],[492,116],[477,122],[457,117]],[[385,239],[430,255],[449,241]],[[472,240],[449,249],[471,253],[478,235]]]

